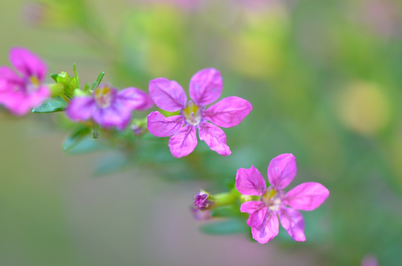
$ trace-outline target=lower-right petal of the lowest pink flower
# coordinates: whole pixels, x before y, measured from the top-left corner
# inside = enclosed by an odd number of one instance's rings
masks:
[[[281,225],[295,241],[306,241],[304,235],[304,219],[299,211],[293,208],[283,208],[279,211]]]

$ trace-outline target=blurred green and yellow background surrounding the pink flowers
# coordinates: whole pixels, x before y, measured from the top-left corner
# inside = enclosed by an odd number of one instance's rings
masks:
[[[14,0],[0,2],[0,23],[2,65],[23,46],[49,74],[76,63],[82,84],[105,71],[113,86],[144,90],[158,77],[187,90],[214,67],[222,97],[253,104],[225,129],[225,158],[199,141],[176,159],[152,136],[129,160],[116,146],[64,153],[62,114],[0,110],[0,265],[360,265],[367,254],[401,265],[400,1]],[[330,190],[303,213],[306,242],[199,231],[208,221],[189,211],[199,188],[228,190],[252,164],[266,177],[281,153],[297,159],[289,188]]]

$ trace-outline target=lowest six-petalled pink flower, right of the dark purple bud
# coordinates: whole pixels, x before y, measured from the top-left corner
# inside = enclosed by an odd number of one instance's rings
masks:
[[[306,182],[286,193],[282,189],[292,182],[296,172],[296,159],[291,153],[281,154],[269,163],[268,180],[271,186],[268,188],[254,166],[237,170],[237,190],[243,195],[261,196],[259,201],[246,201],[240,206],[241,212],[250,213],[247,225],[259,243],[267,243],[278,234],[277,214],[283,228],[295,241],[306,241],[304,219],[297,210],[316,209],[328,198],[329,191],[320,183]]]

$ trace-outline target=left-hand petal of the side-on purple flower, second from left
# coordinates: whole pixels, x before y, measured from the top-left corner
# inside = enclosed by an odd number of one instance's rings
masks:
[[[72,120],[85,121],[92,117],[95,108],[96,103],[92,97],[74,97],[66,109],[66,114]]]

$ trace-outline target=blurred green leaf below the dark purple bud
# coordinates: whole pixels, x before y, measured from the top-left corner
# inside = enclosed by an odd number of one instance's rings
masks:
[[[250,227],[243,219],[228,219],[202,225],[200,230],[211,235],[230,235],[248,232]]]

